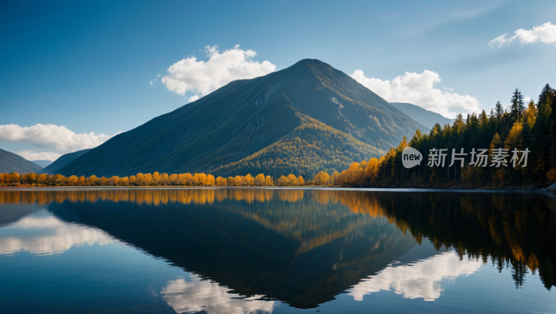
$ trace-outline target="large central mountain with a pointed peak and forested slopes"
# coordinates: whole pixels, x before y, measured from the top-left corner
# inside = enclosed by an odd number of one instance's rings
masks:
[[[426,129],[319,60],[233,81],[121,133],[60,169],[65,175],[265,172],[311,176],[377,157]]]

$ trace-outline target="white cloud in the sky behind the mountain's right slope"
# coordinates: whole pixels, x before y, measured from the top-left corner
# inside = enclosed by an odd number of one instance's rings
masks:
[[[414,104],[445,117],[453,118],[460,112],[473,113],[480,110],[479,101],[475,97],[434,88],[436,83],[441,82],[440,76],[426,69],[421,74],[405,72],[392,81],[368,78],[360,69],[350,76],[386,101]]]

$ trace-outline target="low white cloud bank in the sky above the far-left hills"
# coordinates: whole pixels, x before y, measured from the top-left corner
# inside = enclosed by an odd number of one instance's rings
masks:
[[[95,135],[92,132],[76,134],[65,126],[54,124],[35,124],[25,127],[17,124],[0,125],[0,141],[54,144],[58,151],[79,151],[97,147],[114,135]]]

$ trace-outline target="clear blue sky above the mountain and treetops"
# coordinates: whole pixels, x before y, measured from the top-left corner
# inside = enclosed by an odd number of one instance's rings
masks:
[[[161,78],[180,60],[207,62],[204,47],[215,45],[223,55],[239,44],[256,51],[250,62],[275,69],[317,58],[360,70],[361,83],[386,100],[444,115],[508,104],[515,88],[537,99],[543,85],[556,85],[556,43],[489,42],[556,24],[555,12],[555,1],[3,1],[0,148],[58,156],[183,106],[203,93],[179,94]],[[398,76],[405,90],[384,85]],[[423,90],[411,90],[412,77],[435,79],[434,90],[416,96]],[[443,108],[446,99],[452,108]],[[8,124],[67,131],[18,137],[1,129]]]

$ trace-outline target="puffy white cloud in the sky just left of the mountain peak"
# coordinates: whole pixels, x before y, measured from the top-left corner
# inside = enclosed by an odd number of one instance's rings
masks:
[[[218,46],[206,46],[205,51],[209,57],[206,62],[190,56],[171,65],[162,78],[166,88],[181,96],[188,91],[204,96],[231,81],[263,76],[276,69],[269,61],[253,61],[256,52],[239,49],[238,44],[223,53]]]

